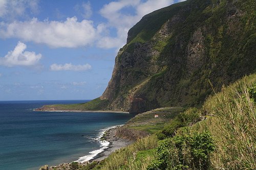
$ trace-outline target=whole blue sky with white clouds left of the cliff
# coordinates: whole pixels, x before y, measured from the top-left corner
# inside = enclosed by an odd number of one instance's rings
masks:
[[[0,0],[0,101],[99,97],[129,29],[181,1]]]

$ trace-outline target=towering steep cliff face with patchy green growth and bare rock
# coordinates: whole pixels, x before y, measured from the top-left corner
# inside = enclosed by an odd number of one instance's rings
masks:
[[[196,106],[256,70],[254,0],[190,0],[145,15],[128,33],[100,96],[107,109]],[[104,108],[104,109],[106,109]]]

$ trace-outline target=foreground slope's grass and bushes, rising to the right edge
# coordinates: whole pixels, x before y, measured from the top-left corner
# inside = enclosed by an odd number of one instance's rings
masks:
[[[256,74],[223,87],[173,116],[158,131],[164,138],[139,139],[89,169],[255,169],[255,87]]]

